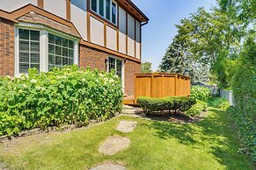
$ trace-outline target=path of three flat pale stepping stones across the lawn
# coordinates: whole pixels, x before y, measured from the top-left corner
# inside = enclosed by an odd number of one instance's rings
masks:
[[[137,123],[132,121],[121,121],[116,127],[117,131],[124,133],[134,131]],[[106,155],[113,155],[117,152],[121,152],[128,148],[130,140],[128,138],[122,138],[120,136],[113,136],[107,138],[103,145],[99,146],[99,152]],[[125,170],[125,166],[113,165],[113,164],[103,164],[97,167],[93,167],[91,170]]]

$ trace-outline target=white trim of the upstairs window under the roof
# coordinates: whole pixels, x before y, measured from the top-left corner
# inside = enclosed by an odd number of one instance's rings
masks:
[[[100,14],[99,14],[99,0],[97,0],[97,11],[93,11],[92,10],[92,8],[91,8],[91,0],[90,0],[90,10],[93,12],[93,13],[95,13],[96,15],[99,15],[99,17],[100,18],[104,18],[104,19],[106,19],[108,22],[110,22],[110,23],[112,23],[113,25],[117,25],[117,23],[118,23],[118,21],[117,21],[117,19],[118,19],[118,5],[117,5],[117,3],[115,2],[115,1],[113,1],[113,0],[110,0],[110,19],[107,19],[106,18],[106,0],[104,0],[104,16],[101,16]],[[115,4],[115,24],[112,22],[112,3],[113,4]]]

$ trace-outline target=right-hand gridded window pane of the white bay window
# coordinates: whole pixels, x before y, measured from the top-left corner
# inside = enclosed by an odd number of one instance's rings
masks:
[[[48,34],[48,69],[74,64],[74,41]]]

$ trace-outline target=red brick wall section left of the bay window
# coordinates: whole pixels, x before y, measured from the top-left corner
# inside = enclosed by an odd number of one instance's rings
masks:
[[[0,75],[14,76],[14,23],[0,18]]]

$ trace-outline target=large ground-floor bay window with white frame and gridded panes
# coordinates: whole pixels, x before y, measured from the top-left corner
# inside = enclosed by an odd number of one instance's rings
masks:
[[[77,64],[77,39],[52,30],[16,28],[15,74],[27,74],[29,68],[48,72],[53,67]],[[54,31],[55,32],[55,31]]]

